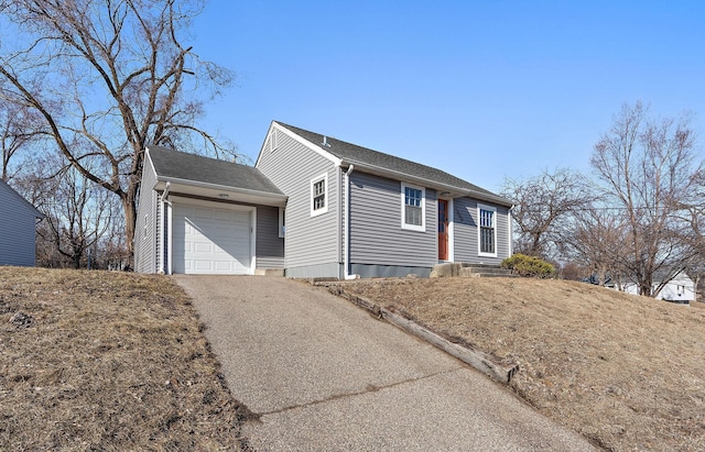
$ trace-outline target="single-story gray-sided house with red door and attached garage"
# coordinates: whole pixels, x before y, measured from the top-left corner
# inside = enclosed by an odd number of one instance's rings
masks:
[[[512,253],[511,201],[451,174],[273,121],[253,167],[148,146],[144,273],[429,276]]]

